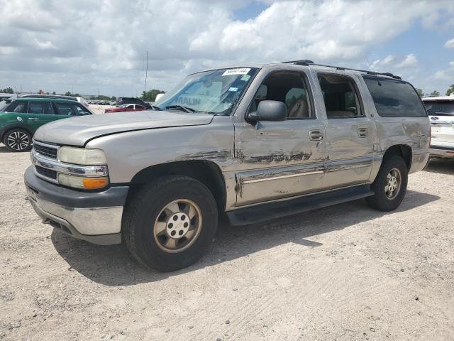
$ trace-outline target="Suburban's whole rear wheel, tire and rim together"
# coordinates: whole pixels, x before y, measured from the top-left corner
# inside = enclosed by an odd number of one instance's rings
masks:
[[[405,161],[397,155],[385,158],[371,185],[375,195],[366,198],[367,204],[380,211],[395,210],[404,200],[407,182]]]

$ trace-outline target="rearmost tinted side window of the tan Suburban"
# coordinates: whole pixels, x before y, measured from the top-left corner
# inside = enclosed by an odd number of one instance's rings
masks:
[[[362,76],[377,113],[382,117],[426,117],[421,99],[409,83],[376,76]]]

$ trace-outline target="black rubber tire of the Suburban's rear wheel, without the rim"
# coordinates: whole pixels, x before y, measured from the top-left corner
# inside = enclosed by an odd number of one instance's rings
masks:
[[[394,197],[388,197],[385,186],[387,185],[388,174],[397,169],[400,172],[400,188],[399,192]],[[374,183],[370,186],[375,192],[375,195],[366,198],[367,204],[376,210],[389,212],[395,210],[404,200],[406,193],[406,185],[408,183],[408,169],[404,159],[400,156],[392,155],[384,158],[380,171],[375,178]]]

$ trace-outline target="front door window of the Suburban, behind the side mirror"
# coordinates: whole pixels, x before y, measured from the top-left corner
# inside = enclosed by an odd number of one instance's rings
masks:
[[[311,119],[306,80],[299,72],[273,72],[255,93],[249,112],[255,112],[262,100],[279,101],[287,107],[287,119]]]

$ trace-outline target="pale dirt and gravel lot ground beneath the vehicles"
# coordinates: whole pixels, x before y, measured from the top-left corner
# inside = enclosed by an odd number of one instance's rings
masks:
[[[391,214],[359,200],[223,222],[170,274],[42,224],[28,163],[0,146],[1,340],[454,340],[454,162],[411,175]]]

